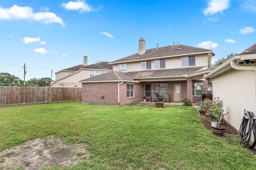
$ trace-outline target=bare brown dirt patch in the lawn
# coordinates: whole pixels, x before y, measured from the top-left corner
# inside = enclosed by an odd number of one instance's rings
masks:
[[[51,166],[72,166],[88,158],[86,144],[64,144],[55,136],[30,140],[0,152],[0,169],[37,170]]]

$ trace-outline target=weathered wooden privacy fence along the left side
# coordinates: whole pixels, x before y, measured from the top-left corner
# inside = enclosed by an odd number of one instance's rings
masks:
[[[0,106],[82,100],[82,88],[0,86]]]

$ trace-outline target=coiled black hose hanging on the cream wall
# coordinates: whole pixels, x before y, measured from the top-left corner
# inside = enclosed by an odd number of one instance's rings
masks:
[[[246,111],[246,109],[244,109],[244,117],[239,129],[240,144],[242,147],[249,149],[253,149],[256,145],[256,120],[253,119],[254,117],[252,111]],[[254,135],[254,142],[250,145],[252,134]]]

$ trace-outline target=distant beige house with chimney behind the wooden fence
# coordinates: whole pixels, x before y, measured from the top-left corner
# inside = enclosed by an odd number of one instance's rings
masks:
[[[87,65],[87,56],[84,56],[84,64],[66,68],[55,72],[56,80],[50,83],[51,87],[82,87],[79,82],[85,78],[90,78],[112,70],[113,66],[109,62],[100,62]]]

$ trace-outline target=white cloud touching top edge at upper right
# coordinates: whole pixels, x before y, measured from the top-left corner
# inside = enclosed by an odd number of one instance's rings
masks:
[[[230,0],[210,0],[208,7],[203,11],[204,15],[223,14],[223,11],[228,9]]]

